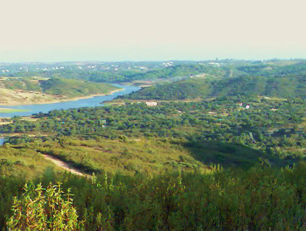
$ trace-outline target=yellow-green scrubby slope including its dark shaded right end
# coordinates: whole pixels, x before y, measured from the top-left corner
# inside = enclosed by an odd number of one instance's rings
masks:
[[[222,167],[248,169],[261,160],[280,166],[283,162],[244,145],[220,141],[186,141],[184,139],[76,139],[60,142],[47,140],[0,147],[2,174],[22,175],[28,179],[40,175],[48,166],[46,154],[62,160],[82,172],[120,172],[134,175],[162,173],[167,170],[210,172],[214,163]],[[8,164],[7,164],[8,163]],[[4,170],[3,170],[4,169]],[[1,170],[1,168],[0,168]],[[56,170],[64,171],[56,167]]]

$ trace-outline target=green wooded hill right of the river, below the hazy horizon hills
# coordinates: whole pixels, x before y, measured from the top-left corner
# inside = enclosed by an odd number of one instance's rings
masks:
[[[120,98],[184,100],[197,97],[255,96],[306,98],[306,74],[249,76],[216,80],[188,79],[143,88]]]

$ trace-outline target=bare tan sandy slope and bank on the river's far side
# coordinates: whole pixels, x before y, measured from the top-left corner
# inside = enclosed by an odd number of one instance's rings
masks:
[[[57,95],[48,95],[42,92],[20,92],[15,90],[0,89],[0,106],[18,106],[28,104],[47,104],[47,103],[60,103],[67,101],[75,101],[79,99],[87,99],[95,96],[109,95],[114,92],[123,91],[120,88],[108,93],[90,94],[80,97],[68,98],[66,96],[59,97]],[[16,93],[17,92],[17,93]]]

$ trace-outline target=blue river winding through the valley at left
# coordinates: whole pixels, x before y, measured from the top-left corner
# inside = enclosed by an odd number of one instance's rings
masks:
[[[136,92],[140,87],[126,86],[113,84],[116,87],[123,88],[125,90],[120,92],[114,92],[109,95],[95,96],[87,99],[79,99],[74,101],[60,102],[60,103],[48,103],[48,104],[32,104],[32,105],[20,105],[20,106],[0,106],[0,108],[12,108],[12,109],[23,109],[29,110],[26,112],[15,112],[15,113],[0,113],[0,117],[11,117],[11,116],[26,116],[37,113],[47,113],[52,110],[69,109],[69,108],[82,108],[82,107],[95,107],[102,106],[101,102],[111,100],[118,95],[125,95],[131,92]],[[1,140],[0,140],[1,143]]]

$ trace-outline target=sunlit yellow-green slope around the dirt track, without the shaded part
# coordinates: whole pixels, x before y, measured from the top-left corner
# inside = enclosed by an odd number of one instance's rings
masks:
[[[31,178],[41,174],[46,167],[54,166],[39,153],[51,155],[87,173],[106,170],[113,174],[120,171],[133,175],[138,171],[152,175],[167,169],[192,171],[195,168],[201,172],[209,171],[205,164],[191,156],[188,148],[179,143],[145,138],[126,141],[66,138],[61,143],[49,140],[21,145],[5,144],[0,147],[2,168],[5,167],[2,174],[23,173]]]

